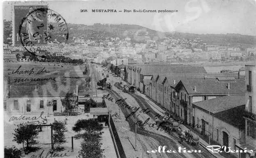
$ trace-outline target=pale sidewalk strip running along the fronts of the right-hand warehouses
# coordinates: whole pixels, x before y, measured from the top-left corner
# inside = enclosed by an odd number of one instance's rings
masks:
[[[138,91],[136,91],[135,92],[137,95],[139,95],[139,96],[141,96],[142,98],[144,98],[145,100],[146,100],[146,102],[147,103],[149,103],[149,105],[151,106],[151,108],[155,111],[155,112],[157,112],[157,113],[159,113],[161,116],[166,116],[165,115],[165,110],[163,110],[161,107],[159,107],[158,105],[156,105],[153,101],[151,101],[149,98],[147,98],[144,94],[142,94],[142,93],[140,93],[140,92],[138,92]],[[170,119],[170,120],[173,120],[172,118]],[[190,130],[189,128],[187,128],[185,125],[179,125],[182,129],[184,129],[184,130],[186,130],[186,131],[188,131],[188,130]],[[190,130],[191,131],[191,130]],[[199,136],[197,133],[195,133],[195,132],[193,132],[193,131],[191,131],[193,134],[195,134],[195,135],[197,135],[197,136]],[[206,141],[204,141],[201,137],[199,137],[199,144],[203,147],[203,148],[205,148],[206,149],[206,147],[207,146],[209,146],[209,144],[206,142]],[[206,149],[207,151],[208,151],[208,149]],[[216,158],[225,158],[224,156],[222,156],[222,155],[220,155],[219,153],[212,153],[212,152],[210,152],[210,154],[212,154],[213,156],[215,156]]]

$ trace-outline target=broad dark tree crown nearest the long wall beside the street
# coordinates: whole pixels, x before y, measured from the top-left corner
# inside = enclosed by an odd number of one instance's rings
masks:
[[[75,126],[72,127],[73,131],[79,132],[81,130],[87,131],[89,134],[92,134],[93,131],[101,131],[103,127],[94,120],[78,120],[75,123]]]

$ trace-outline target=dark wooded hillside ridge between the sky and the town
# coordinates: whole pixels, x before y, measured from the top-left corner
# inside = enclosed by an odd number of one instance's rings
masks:
[[[145,42],[145,40],[160,40],[164,37],[172,39],[188,39],[192,40],[200,38],[207,45],[233,45],[243,47],[253,47],[256,45],[256,36],[247,36],[241,34],[194,34],[194,33],[162,33],[146,27],[135,24],[68,24],[69,27],[69,40],[73,42],[73,37],[92,39],[92,40],[105,40],[107,37],[124,39],[131,38],[131,42]],[[4,21],[4,43],[10,42],[7,40],[11,34],[11,22]],[[52,39],[60,40],[57,35],[57,30],[54,30]],[[59,41],[64,42],[64,41]]]

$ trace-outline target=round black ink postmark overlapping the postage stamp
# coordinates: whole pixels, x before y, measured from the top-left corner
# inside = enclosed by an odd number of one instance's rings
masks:
[[[66,43],[69,39],[66,20],[48,8],[30,7],[18,30],[23,47],[32,55],[43,57],[49,43]],[[45,51],[44,51],[45,52]]]

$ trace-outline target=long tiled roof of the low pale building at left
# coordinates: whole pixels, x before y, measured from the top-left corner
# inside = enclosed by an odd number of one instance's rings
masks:
[[[33,97],[33,96],[66,96],[66,93],[75,91],[75,85],[58,85],[56,87],[51,87],[49,85],[38,85],[37,90],[35,90],[35,85],[33,86],[10,86],[10,97],[23,96],[23,97]]]

